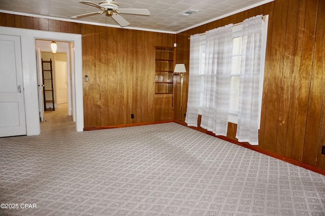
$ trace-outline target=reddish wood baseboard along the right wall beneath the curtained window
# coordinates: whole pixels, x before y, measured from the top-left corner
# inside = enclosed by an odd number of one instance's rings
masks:
[[[178,123],[178,124],[181,124],[181,125],[184,125],[184,126],[187,126],[186,123],[184,122],[180,122],[180,121],[175,121],[175,123]],[[187,126],[188,127],[188,126]],[[270,157],[274,157],[276,159],[279,159],[279,160],[282,160],[282,161],[285,161],[285,162],[288,162],[288,163],[291,163],[291,164],[294,164],[296,166],[300,166],[300,167],[303,167],[305,169],[308,169],[308,170],[311,170],[311,171],[314,171],[314,172],[317,172],[318,174],[321,174],[321,175],[324,175],[325,176],[325,170],[323,169],[320,169],[320,168],[317,168],[315,166],[312,166],[312,165],[309,165],[309,164],[306,164],[306,163],[303,163],[303,162],[300,162],[298,160],[295,160],[295,159],[292,159],[292,158],[289,158],[289,157],[285,157],[285,156],[282,156],[282,155],[279,155],[279,154],[276,154],[276,153],[273,153],[273,152],[269,152],[267,150],[264,150],[264,149],[260,149],[260,148],[257,148],[256,146],[251,146],[247,143],[240,143],[238,141],[235,141],[235,140],[232,140],[228,137],[224,137],[224,136],[216,136],[214,135],[212,132],[207,132],[207,131],[203,131],[202,129],[200,128],[197,128],[197,127],[190,127],[192,129],[195,129],[196,131],[200,131],[202,133],[205,133],[205,134],[208,134],[210,136],[213,136],[213,137],[216,137],[216,138],[219,138],[221,140],[224,140],[224,141],[228,141],[230,143],[233,143],[233,144],[236,144],[236,145],[239,145],[239,146],[242,146],[244,148],[247,148],[247,149],[251,149],[253,151],[256,151],[256,152],[259,152],[259,153],[262,153],[262,154],[265,154],[265,155],[268,155]]]

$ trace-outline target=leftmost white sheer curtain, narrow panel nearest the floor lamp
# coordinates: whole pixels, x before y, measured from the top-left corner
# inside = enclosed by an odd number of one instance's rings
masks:
[[[198,127],[199,84],[200,84],[200,34],[190,36],[188,98],[185,122],[188,126]]]

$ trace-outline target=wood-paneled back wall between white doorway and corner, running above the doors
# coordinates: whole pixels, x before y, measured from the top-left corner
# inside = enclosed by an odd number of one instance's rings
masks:
[[[82,35],[85,128],[173,120],[172,98],[155,98],[154,64],[155,46],[173,47],[175,34],[5,13],[0,26]]]

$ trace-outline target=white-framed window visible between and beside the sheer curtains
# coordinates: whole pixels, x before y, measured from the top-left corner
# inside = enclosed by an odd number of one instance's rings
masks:
[[[266,16],[266,21],[268,15]],[[263,38],[262,38],[262,56],[261,56],[261,77],[264,77],[264,66],[265,66],[265,52],[266,52],[266,40],[267,40],[267,22],[263,25]],[[204,70],[205,70],[205,54],[206,54],[206,35],[200,36],[200,82],[199,82],[199,97],[200,107],[199,114],[202,114],[203,106],[203,91],[204,91]],[[232,68],[230,77],[230,100],[229,100],[229,122],[238,122],[238,111],[239,111],[239,100],[240,100],[240,73],[245,69],[245,55],[242,55],[242,51],[246,50],[247,38],[242,37],[242,26],[241,24],[233,27],[233,53],[232,53]],[[243,50],[244,49],[244,50]],[[262,107],[262,91],[263,91],[263,78],[259,83],[259,119],[261,118],[261,107]]]

